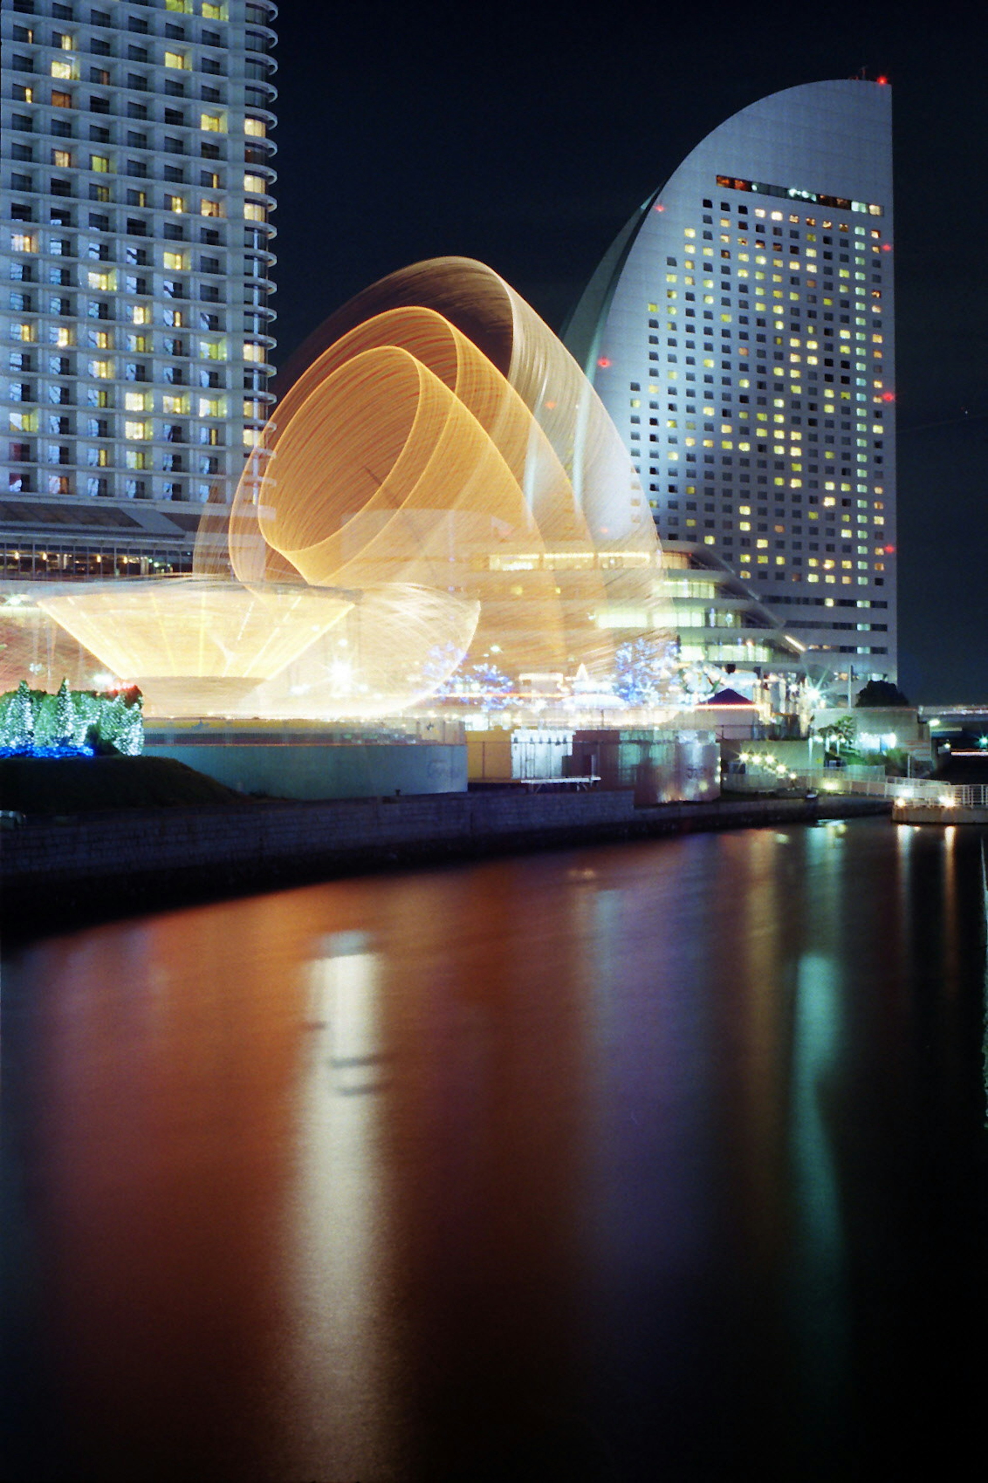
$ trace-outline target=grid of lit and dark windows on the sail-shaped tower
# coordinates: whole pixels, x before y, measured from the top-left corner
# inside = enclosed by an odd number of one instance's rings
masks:
[[[628,440],[660,534],[717,547],[760,584],[771,571],[881,587],[889,239],[813,208],[703,208],[642,305],[629,383]]]

